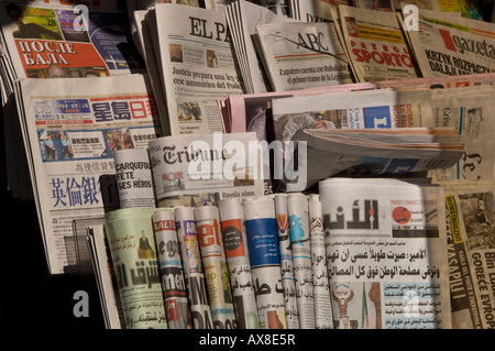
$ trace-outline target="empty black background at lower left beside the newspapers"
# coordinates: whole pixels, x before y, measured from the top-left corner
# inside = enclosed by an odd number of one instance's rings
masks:
[[[2,112],[0,123],[0,328],[105,329],[95,276],[51,275],[34,200],[21,201],[8,190],[3,118],[9,117]],[[74,316],[77,290],[89,295],[89,317]]]

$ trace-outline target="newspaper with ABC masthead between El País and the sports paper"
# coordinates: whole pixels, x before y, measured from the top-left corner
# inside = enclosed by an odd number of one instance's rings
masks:
[[[353,83],[333,22],[268,23],[256,31],[273,90]]]

